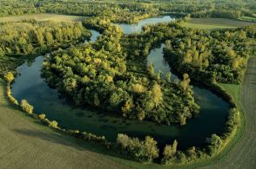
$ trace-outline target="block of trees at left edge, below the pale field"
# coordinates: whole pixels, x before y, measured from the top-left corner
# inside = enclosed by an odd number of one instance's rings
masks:
[[[10,70],[12,62],[23,60],[21,55],[33,55],[69,47],[84,41],[91,32],[82,23],[36,22],[0,23],[1,72]],[[3,62],[3,63],[2,63]]]

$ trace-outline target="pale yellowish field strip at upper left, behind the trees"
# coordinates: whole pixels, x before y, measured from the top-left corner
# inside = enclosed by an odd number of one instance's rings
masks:
[[[33,14],[26,16],[4,16],[0,17],[0,22],[16,22],[24,19],[35,19],[37,21],[83,21],[86,16],[69,16],[69,15],[58,15],[58,14]]]

